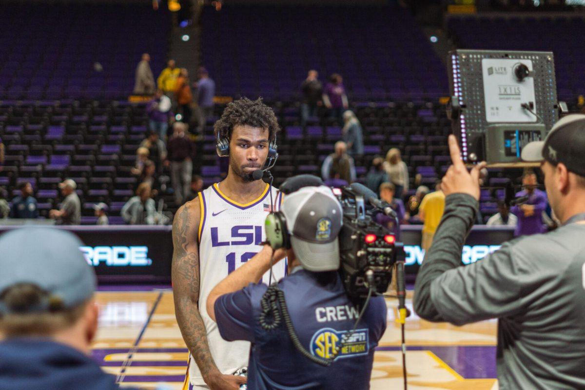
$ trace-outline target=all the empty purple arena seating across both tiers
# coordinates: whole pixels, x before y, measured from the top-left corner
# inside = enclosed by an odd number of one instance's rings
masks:
[[[147,127],[144,104],[125,100],[143,51],[152,54],[155,74],[163,67],[168,12],[153,13],[150,6],[112,10],[87,4],[5,9],[0,15],[0,49],[6,53],[0,58],[0,137],[6,145],[6,163],[0,186],[13,195],[19,182],[30,181],[41,215],[46,216],[60,200],[57,184],[74,178],[83,223],[95,222],[91,206],[97,202],[109,204],[112,223],[122,223],[119,210],[136,187],[130,168]],[[398,147],[410,171],[407,195],[414,192],[417,175],[420,184],[433,188],[450,164],[445,142],[450,123],[438,103],[440,96],[448,95],[448,77],[408,12],[391,6],[267,6],[261,8],[261,21],[259,13],[257,6],[225,6],[222,12],[204,8],[202,54],[218,95],[263,96],[277,113],[283,132],[273,170],[275,184],[294,174],[319,175],[322,161],[341,137],[342,129],[328,118],[312,118],[307,128],[300,126],[298,88],[307,70],[316,68],[322,80],[333,72],[345,77],[350,104],[364,128],[365,154],[356,157],[358,180],[365,177],[373,156]],[[515,32],[533,23],[506,22],[500,31],[494,27],[498,19],[479,18],[475,26],[476,19],[450,19],[450,33],[461,47],[504,49],[486,46],[488,34],[503,34],[505,39],[497,42],[510,43]],[[307,27],[298,29],[299,25]],[[574,96],[583,82],[563,89],[567,86],[563,80],[569,71],[580,74],[576,61],[581,55],[564,48],[577,40],[560,39],[565,27],[556,21],[545,25],[556,29],[553,35],[562,47],[550,46],[551,39],[527,46],[526,39],[505,49],[555,50],[559,95]],[[245,39],[236,43],[235,36]],[[95,62],[103,71],[94,68]],[[574,109],[573,99],[570,103]],[[222,109],[216,106],[216,116]],[[202,157],[194,169],[205,185],[221,179],[213,121],[198,143]],[[503,172],[490,170],[488,184],[502,187],[507,181]],[[173,196],[168,192],[160,196],[174,210]],[[484,218],[496,211],[498,198],[503,198],[502,189],[482,191]]]

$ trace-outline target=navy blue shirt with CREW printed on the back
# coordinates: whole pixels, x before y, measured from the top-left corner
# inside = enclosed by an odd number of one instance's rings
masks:
[[[302,345],[314,356],[329,358],[343,334],[353,329],[359,307],[345,293],[337,272],[299,270],[281,279],[292,325]],[[386,330],[386,302],[370,299],[356,332],[329,366],[313,363],[297,351],[284,323],[264,330],[260,301],[267,285],[250,284],[215,302],[219,333],[228,341],[252,343],[248,388],[258,390],[369,389],[374,348]]]

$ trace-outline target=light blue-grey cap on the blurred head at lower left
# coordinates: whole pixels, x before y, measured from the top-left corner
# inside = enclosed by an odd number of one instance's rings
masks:
[[[50,227],[21,227],[0,236],[0,296],[20,283],[36,285],[47,299],[30,312],[49,309],[50,302],[73,308],[95,292],[96,278],[73,233]],[[19,309],[19,313],[23,310]],[[0,313],[11,313],[0,299]]]

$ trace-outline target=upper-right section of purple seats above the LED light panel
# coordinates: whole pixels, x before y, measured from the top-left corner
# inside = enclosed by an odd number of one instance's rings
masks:
[[[553,51],[559,99],[585,94],[583,16],[452,16],[449,32],[460,49]]]

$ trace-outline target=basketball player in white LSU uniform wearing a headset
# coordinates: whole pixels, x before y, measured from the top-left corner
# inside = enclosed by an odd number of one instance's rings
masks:
[[[281,194],[253,172],[273,160],[278,123],[261,100],[230,103],[215,136],[219,156],[229,157],[225,180],[178,209],[173,222],[173,292],[177,322],[191,352],[184,389],[239,389],[245,378],[250,343],[224,341],[207,314],[209,292],[261,249],[264,220],[278,209]],[[286,265],[273,267],[276,280]],[[268,272],[263,281],[270,284]]]

